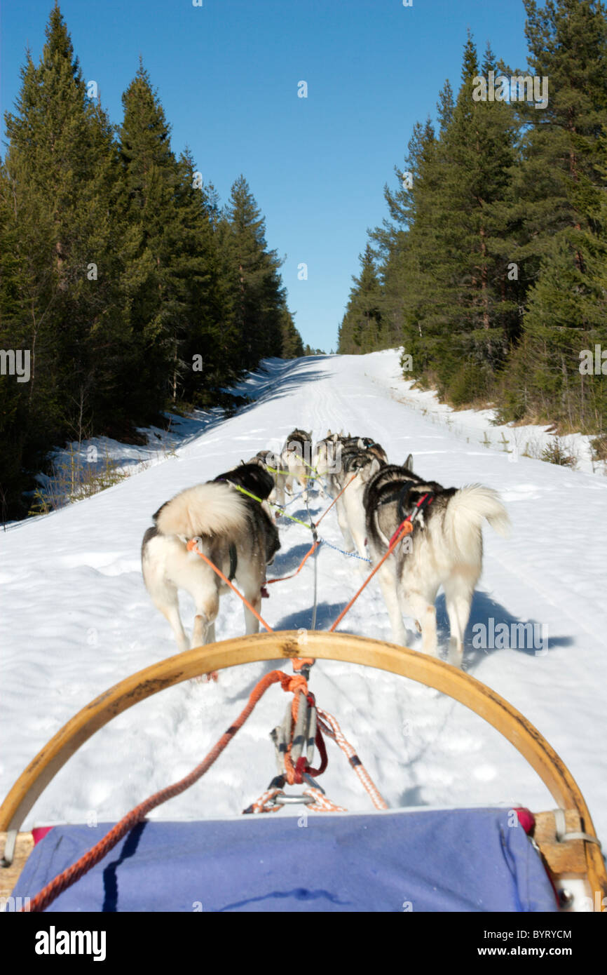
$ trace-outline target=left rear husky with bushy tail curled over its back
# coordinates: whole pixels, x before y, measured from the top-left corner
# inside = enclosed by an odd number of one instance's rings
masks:
[[[244,487],[264,505],[241,493]],[[281,547],[279,534],[265,508],[274,481],[258,464],[242,464],[207,484],[188,487],[159,508],[154,527],[141,545],[145,587],[167,617],[180,650],[188,641],[179,616],[177,590],[185,589],[196,604],[190,646],[213,643],[219,596],[228,587],[207,563],[188,552],[187,542],[198,539],[199,549],[230,581],[234,579],[247,601],[259,612],[266,565]],[[259,622],[245,606],[246,633],[257,633]]]

